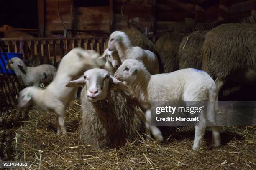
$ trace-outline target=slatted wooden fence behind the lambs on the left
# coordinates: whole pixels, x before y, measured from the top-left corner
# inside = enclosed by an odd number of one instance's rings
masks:
[[[156,41],[156,36],[148,36],[148,38],[152,42]],[[2,38],[0,39],[0,52],[23,53],[23,61],[27,66],[51,64],[57,67],[61,58],[75,47],[95,50],[102,54],[107,40],[108,37]],[[18,92],[23,88],[22,82],[15,75],[0,74],[0,108],[17,105]]]

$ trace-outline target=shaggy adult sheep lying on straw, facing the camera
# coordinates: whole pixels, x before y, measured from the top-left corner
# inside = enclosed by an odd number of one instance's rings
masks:
[[[134,140],[144,130],[144,114],[127,86],[104,69],[91,69],[67,87],[85,85],[81,92],[80,138],[96,148],[113,148]]]

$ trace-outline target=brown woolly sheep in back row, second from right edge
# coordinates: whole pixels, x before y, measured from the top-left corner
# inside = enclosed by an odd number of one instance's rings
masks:
[[[179,69],[196,68],[202,69],[201,48],[208,31],[192,32],[183,37],[179,46]]]

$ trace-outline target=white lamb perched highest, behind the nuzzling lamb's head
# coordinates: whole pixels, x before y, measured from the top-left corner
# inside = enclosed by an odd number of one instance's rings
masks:
[[[146,68],[152,75],[159,73],[158,59],[156,55],[149,50],[133,47],[131,40],[124,32],[115,31],[110,35],[108,50],[117,50],[122,63],[124,60],[131,58],[140,60],[146,65]]]

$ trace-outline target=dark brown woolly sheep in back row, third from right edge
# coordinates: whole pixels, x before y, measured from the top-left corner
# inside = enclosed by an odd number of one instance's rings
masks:
[[[156,51],[160,57],[159,63],[164,69],[161,72],[168,73],[178,70],[179,45],[183,37],[182,34],[168,32],[156,41]]]

